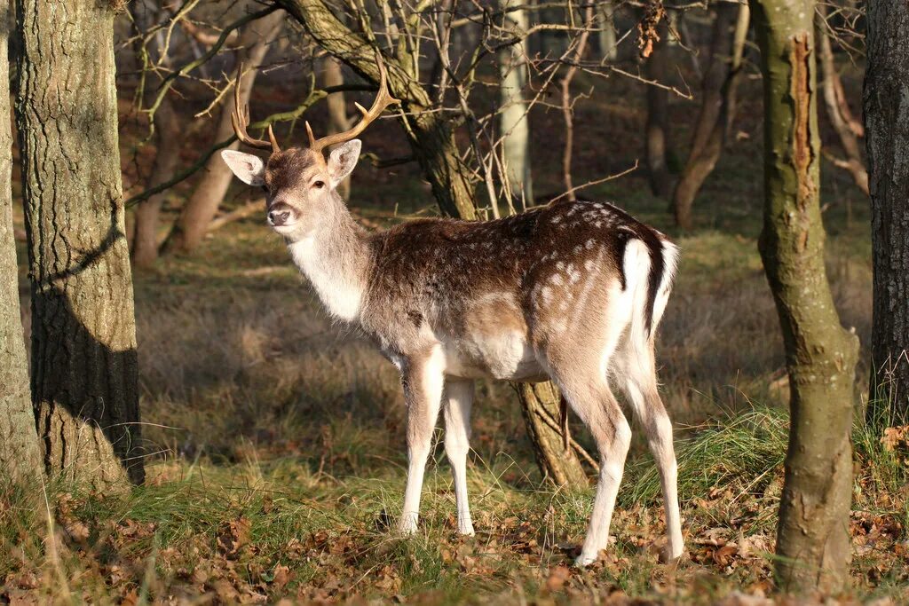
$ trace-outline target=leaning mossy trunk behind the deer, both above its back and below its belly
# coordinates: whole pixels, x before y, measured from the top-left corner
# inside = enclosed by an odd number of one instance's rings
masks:
[[[371,82],[378,83],[378,68],[375,63],[378,49],[341,22],[323,0],[275,0],[275,4],[303,25],[325,51]],[[471,171],[458,153],[449,119],[442,112],[428,111],[434,104],[415,77],[414,65],[394,58],[385,57],[384,60],[388,68],[389,88],[404,104],[401,124],[427,181],[432,185],[440,210],[448,216],[475,219],[475,188]],[[560,409],[557,390],[551,383],[544,383],[542,386],[522,386],[518,393],[535,452],[540,454],[552,451],[547,444],[554,442],[554,436],[561,443],[562,433],[553,430],[544,422],[543,415],[536,411],[545,411],[548,416],[558,419]],[[548,395],[540,397],[535,393]],[[544,477],[552,478],[560,484],[586,484],[584,470],[576,453],[562,452],[561,446],[559,449],[558,456],[537,459]]]

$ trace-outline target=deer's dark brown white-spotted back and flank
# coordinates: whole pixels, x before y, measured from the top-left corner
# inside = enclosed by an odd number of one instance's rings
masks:
[[[658,248],[661,238],[612,204],[587,202],[402,224],[375,236],[364,328],[389,353],[443,343],[452,359],[486,367],[476,374],[529,378],[539,371],[528,359],[534,347],[554,330],[576,330],[573,316],[602,315],[624,289],[628,243]],[[595,330],[600,320],[589,319]],[[496,359],[502,368],[490,367]]]

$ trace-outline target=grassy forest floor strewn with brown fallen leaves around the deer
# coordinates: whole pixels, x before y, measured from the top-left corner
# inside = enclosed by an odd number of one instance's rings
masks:
[[[577,181],[634,163],[637,150],[622,141],[641,138],[641,106],[632,97],[578,106],[591,146],[580,143],[575,163],[586,174]],[[675,103],[674,124],[692,107]],[[756,244],[759,115],[743,111],[730,152],[697,201],[692,233],[672,228],[665,201],[649,194],[640,171],[584,192],[664,229],[683,250],[658,353],[676,426],[681,561],[657,556],[659,487],[635,432],[609,549],[589,569],[572,568],[593,488],[569,492],[541,481],[516,398],[503,384],[481,384],[474,405],[468,473],[476,536],[454,531],[440,443],[420,529],[395,536],[389,525],[405,480],[395,369],[327,321],[280,240],[255,216],[213,233],[193,256],[136,273],[147,482],[120,495],[49,485],[54,507],[25,496],[0,507],[0,602],[774,603],[788,391]],[[540,130],[557,133],[554,113],[548,123],[540,120]],[[558,165],[557,154],[557,145],[540,149],[535,174]],[[557,192],[557,175],[536,186]],[[184,195],[178,188],[169,204],[178,207]],[[835,301],[866,344],[867,203],[829,164],[823,197]],[[364,164],[353,200],[358,214],[389,224],[426,212],[430,198],[414,167],[382,172]],[[863,361],[857,401],[867,389],[866,354]],[[582,427],[573,430],[590,446]],[[909,495],[900,448],[907,444],[894,450],[860,423],[854,442],[852,587],[834,597],[906,603]]]

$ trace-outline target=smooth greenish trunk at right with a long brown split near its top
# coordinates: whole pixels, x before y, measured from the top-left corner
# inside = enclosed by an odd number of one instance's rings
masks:
[[[814,0],[751,0],[764,75],[764,272],[783,331],[791,425],[777,530],[784,591],[838,591],[851,547],[858,339],[824,270]]]

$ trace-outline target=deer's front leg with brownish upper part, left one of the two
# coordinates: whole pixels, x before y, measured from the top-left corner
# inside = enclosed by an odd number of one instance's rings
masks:
[[[442,352],[433,348],[425,357],[408,360],[401,373],[407,403],[407,488],[400,531],[412,534],[420,512],[420,492],[426,459],[433,441],[433,430],[442,404],[445,386]]]

